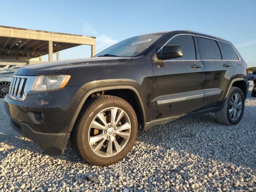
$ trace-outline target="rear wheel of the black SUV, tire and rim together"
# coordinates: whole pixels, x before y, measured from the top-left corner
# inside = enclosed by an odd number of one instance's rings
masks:
[[[236,103],[235,98],[238,98]],[[239,97],[240,96],[240,97]],[[231,104],[232,102],[234,105]],[[236,104],[235,104],[236,103]],[[235,116],[236,111],[236,116]],[[234,112],[232,114],[232,112]],[[230,114],[231,113],[231,114]],[[220,111],[216,112],[217,121],[221,124],[233,125],[240,122],[244,113],[244,94],[240,88],[231,87],[227,98],[224,100],[224,104]]]

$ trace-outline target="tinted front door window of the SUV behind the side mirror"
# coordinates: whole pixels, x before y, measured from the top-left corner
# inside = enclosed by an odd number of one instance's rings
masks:
[[[196,50],[193,36],[179,35],[170,40],[167,45],[179,45],[182,48],[183,56],[174,60],[194,60],[196,59]]]

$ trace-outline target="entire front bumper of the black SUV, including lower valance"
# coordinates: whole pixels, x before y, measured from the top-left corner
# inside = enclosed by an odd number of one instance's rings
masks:
[[[65,87],[52,92],[33,92],[24,101],[4,98],[10,125],[24,137],[41,146],[47,154],[64,152],[74,116],[79,87]]]

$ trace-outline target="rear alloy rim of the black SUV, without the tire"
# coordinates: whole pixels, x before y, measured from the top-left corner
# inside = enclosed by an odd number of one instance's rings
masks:
[[[229,102],[229,116],[232,120],[237,120],[242,112],[242,97],[239,93],[234,93]]]

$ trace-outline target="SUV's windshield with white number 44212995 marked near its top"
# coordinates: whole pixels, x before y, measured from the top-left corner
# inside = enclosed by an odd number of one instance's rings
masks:
[[[99,56],[135,57],[146,50],[164,33],[147,34],[128,38],[96,54]]]

